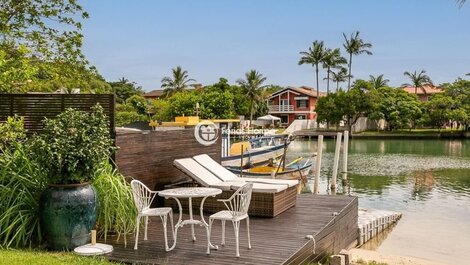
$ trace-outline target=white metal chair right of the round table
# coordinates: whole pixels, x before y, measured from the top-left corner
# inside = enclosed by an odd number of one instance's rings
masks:
[[[248,216],[248,208],[250,207],[251,193],[253,191],[253,183],[249,182],[240,187],[228,199],[219,199],[225,204],[227,210],[217,212],[209,217],[209,242],[212,232],[212,223],[214,220],[222,222],[222,245],[225,245],[225,221],[232,221],[235,231],[236,256],[240,257],[239,251],[239,231],[240,221],[246,219],[246,230],[248,232],[248,248],[251,249],[250,240],[250,217]]]

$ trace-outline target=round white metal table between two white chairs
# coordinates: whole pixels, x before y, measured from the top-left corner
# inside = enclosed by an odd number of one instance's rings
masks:
[[[178,229],[184,225],[191,225],[191,236],[193,241],[196,241],[196,236],[194,235],[194,225],[204,226],[207,232],[207,254],[210,254],[210,249],[217,249],[217,246],[212,245],[210,242],[210,234],[209,234],[209,224],[204,220],[204,201],[208,197],[215,197],[222,193],[221,189],[217,188],[202,188],[202,187],[186,187],[186,188],[175,188],[175,189],[167,189],[158,192],[159,196],[165,197],[165,199],[173,198],[178,203],[179,207],[179,218],[178,222],[175,225],[175,233],[173,238],[173,246],[170,247],[169,250],[173,250],[176,246],[176,238],[178,236]],[[181,207],[181,202],[179,199],[188,199],[189,200],[189,219],[182,220],[183,215],[183,207]],[[201,205],[199,206],[201,219],[195,220],[193,218],[193,203],[192,198],[203,198],[201,200]]]

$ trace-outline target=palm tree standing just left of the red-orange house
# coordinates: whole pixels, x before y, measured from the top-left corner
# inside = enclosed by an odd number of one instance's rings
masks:
[[[237,84],[242,87],[243,94],[250,99],[250,127],[253,120],[254,106],[261,100],[263,89],[266,87],[262,85],[264,81],[266,81],[266,77],[263,77],[256,70],[245,73],[245,79],[237,80]]]

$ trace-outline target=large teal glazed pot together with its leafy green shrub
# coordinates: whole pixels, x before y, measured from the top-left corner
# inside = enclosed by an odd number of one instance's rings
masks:
[[[49,184],[41,195],[39,215],[51,249],[71,250],[89,243],[98,210],[90,182],[109,159],[112,144],[109,122],[99,105],[90,113],[67,109],[46,119],[44,131],[34,137],[33,155]]]

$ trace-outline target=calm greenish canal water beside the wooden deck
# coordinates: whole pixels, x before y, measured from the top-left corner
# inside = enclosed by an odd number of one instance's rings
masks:
[[[328,190],[334,140],[323,143],[320,193]],[[288,158],[309,157],[315,140],[291,143]],[[341,162],[340,162],[340,172]],[[402,219],[363,248],[444,264],[470,264],[470,140],[350,140],[348,183],[337,194],[360,208],[398,211]],[[313,178],[304,188],[313,190]]]

